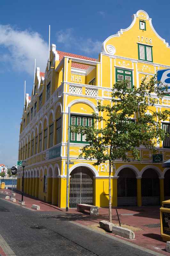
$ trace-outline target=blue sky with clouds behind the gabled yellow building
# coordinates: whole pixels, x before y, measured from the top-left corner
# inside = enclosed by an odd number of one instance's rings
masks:
[[[20,117],[33,86],[34,58],[41,71],[51,43],[60,51],[97,58],[103,41],[127,28],[138,10],[148,12],[158,34],[170,42],[169,1],[3,1],[0,8],[0,164],[18,158]]]

